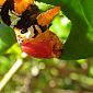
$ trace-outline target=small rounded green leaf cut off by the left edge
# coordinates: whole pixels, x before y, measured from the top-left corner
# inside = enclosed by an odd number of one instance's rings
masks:
[[[5,24],[0,24],[0,55],[4,54],[14,43],[13,30]]]

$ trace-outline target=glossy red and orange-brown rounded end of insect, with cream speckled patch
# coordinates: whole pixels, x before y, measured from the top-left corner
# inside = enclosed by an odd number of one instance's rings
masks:
[[[33,38],[34,34],[28,33],[16,35],[23,51],[36,58],[60,57],[62,43],[56,34],[47,30]]]

